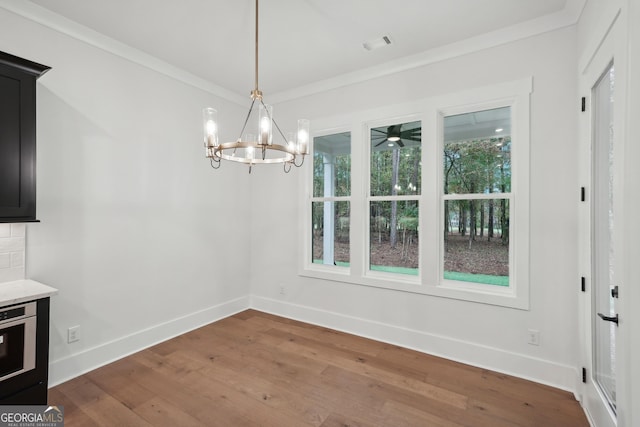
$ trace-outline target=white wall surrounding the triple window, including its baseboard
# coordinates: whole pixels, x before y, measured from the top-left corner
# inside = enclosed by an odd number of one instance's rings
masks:
[[[276,105],[279,121],[304,116],[313,126],[314,118],[533,76],[530,310],[298,276],[302,179],[277,170],[251,181],[253,306],[575,390],[575,52],[575,28],[563,29]],[[540,331],[540,346],[527,344],[529,328]]]

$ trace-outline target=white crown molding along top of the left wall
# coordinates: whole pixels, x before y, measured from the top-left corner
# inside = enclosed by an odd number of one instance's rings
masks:
[[[231,101],[241,106],[244,106],[247,103],[246,96],[241,96],[233,91],[225,89],[222,86],[215,85],[208,80],[183,70],[182,68],[171,65],[168,62],[156,58],[155,56],[149,55],[127,44],[107,37],[89,27],[78,24],[75,21],[51,12],[50,10],[31,3],[30,1],[0,0],[0,7],[33,22],[51,28],[59,33],[104,50],[105,52],[117,55],[189,86],[209,92],[212,95],[224,98],[227,101]]]

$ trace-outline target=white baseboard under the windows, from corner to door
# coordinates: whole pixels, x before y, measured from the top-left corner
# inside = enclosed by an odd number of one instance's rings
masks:
[[[576,395],[578,371],[573,366],[255,295],[251,296],[251,308],[513,375]]]

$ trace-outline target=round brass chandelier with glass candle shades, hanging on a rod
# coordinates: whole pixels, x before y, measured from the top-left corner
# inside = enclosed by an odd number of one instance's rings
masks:
[[[234,142],[218,141],[218,112],[207,107],[202,111],[204,126],[204,146],[211,167],[218,169],[222,160],[249,165],[249,173],[255,164],[284,164],[284,171],[291,166],[300,167],[309,150],[309,120],[298,120],[298,132],[287,136],[273,119],[273,106],[265,104],[262,92],[258,88],[258,0],[256,0],[256,39],[255,39],[255,87],[251,91],[251,106],[245,118],[238,139]],[[254,109],[258,107],[257,128],[247,131],[251,117],[255,119]],[[276,128],[283,143],[273,141],[273,128]],[[250,127],[251,129],[251,127]],[[245,131],[247,131],[245,133]]]

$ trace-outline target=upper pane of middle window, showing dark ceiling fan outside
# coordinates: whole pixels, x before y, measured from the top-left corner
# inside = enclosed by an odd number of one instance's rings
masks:
[[[371,129],[371,195],[420,194],[421,122]]]

